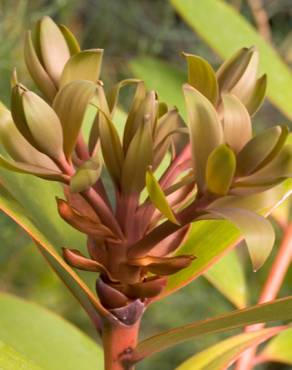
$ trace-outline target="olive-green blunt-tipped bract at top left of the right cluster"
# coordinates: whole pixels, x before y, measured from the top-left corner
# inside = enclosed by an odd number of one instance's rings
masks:
[[[218,83],[211,65],[203,58],[183,53],[188,64],[188,83],[202,93],[214,105],[218,99]]]

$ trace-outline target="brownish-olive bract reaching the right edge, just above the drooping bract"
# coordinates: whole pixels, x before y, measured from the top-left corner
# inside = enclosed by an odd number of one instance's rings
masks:
[[[273,185],[292,177],[292,145],[285,145],[265,167],[239,180],[240,186]]]

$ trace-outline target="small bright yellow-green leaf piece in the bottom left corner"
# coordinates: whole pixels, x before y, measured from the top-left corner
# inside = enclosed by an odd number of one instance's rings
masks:
[[[2,341],[0,341],[0,368],[3,370],[43,370]]]

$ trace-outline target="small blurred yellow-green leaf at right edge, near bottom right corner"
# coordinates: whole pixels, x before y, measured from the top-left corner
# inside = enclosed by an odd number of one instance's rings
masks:
[[[292,366],[291,344],[292,329],[288,329],[271,340],[259,356],[265,361],[283,362]]]

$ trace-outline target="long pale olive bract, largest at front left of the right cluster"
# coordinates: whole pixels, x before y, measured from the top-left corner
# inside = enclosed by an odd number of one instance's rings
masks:
[[[223,131],[210,101],[190,85],[184,85],[192,159],[200,190],[205,186],[205,171],[210,153],[222,143]]]

